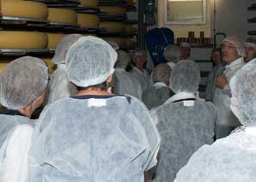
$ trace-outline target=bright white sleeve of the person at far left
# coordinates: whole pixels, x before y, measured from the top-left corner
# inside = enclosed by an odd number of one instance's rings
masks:
[[[4,170],[1,182],[27,182],[27,152],[30,148],[34,128],[29,125],[17,126],[11,134],[6,156],[3,160]]]

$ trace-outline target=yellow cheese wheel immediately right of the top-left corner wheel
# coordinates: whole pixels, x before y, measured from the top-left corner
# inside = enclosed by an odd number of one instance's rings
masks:
[[[72,9],[48,9],[48,21],[54,23],[76,24],[77,15]]]

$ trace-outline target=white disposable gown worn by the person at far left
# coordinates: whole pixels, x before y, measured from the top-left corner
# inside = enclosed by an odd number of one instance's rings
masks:
[[[0,181],[27,182],[27,152],[34,132],[32,122],[20,115],[0,114]]]

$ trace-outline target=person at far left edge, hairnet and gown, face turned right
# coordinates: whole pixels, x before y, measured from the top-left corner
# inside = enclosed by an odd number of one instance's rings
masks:
[[[10,62],[0,76],[0,181],[27,182],[27,152],[34,132],[31,115],[43,103],[48,68],[24,56]]]

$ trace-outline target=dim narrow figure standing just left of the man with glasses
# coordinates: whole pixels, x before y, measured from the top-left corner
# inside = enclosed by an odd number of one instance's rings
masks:
[[[216,91],[216,77],[224,70],[224,65],[222,62],[222,49],[215,48],[211,50],[210,59],[214,67],[212,68],[211,72],[207,77],[207,83],[205,88],[205,100],[212,102],[214,92]]]

